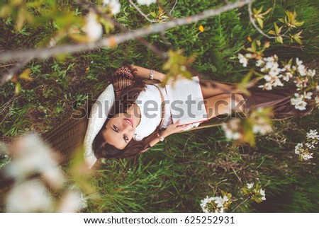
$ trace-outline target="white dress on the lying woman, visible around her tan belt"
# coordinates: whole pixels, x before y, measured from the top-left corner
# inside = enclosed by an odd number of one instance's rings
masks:
[[[135,129],[135,135],[133,139],[135,141],[141,141],[145,137],[152,134],[155,129],[159,126],[162,118],[162,98],[155,87],[157,86],[164,96],[165,103],[165,116],[164,122],[161,128],[167,128],[169,124],[172,124],[172,115],[169,105],[169,99],[165,88],[159,86],[159,84],[147,84],[145,91],[141,91],[136,99],[135,103],[140,107],[141,119],[140,124]],[[193,127],[198,127],[200,122],[190,124],[184,130],[191,129]]]

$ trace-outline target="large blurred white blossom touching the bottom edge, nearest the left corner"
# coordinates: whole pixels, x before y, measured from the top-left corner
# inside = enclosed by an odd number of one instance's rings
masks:
[[[52,207],[50,194],[38,180],[15,185],[6,197],[6,211],[9,213],[52,212]]]

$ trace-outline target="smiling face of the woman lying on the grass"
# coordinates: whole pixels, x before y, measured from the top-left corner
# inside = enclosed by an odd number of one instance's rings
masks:
[[[102,131],[103,139],[117,149],[124,149],[133,139],[138,123],[138,118],[129,113],[123,112],[114,115],[108,120]]]

